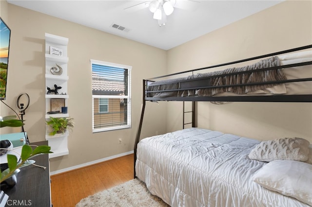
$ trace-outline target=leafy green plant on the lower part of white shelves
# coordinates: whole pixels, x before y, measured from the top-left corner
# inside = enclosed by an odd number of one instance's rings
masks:
[[[74,118],[70,117],[61,117],[54,118],[50,117],[49,121],[46,121],[46,124],[52,128],[52,131],[49,135],[54,136],[57,133],[64,133],[67,129],[72,129],[74,127]]]

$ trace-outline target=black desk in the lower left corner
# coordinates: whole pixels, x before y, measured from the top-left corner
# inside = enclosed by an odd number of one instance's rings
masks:
[[[31,144],[48,145],[48,141]],[[21,168],[17,174],[17,184],[11,189],[3,190],[9,196],[6,207],[51,207],[49,155],[38,155],[31,159],[36,161],[36,165],[44,166],[46,169],[34,165]]]

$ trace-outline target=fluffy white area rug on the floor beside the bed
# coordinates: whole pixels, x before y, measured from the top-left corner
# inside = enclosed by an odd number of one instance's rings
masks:
[[[111,189],[98,192],[81,199],[76,207],[169,207],[152,195],[145,183],[138,179],[130,180]]]

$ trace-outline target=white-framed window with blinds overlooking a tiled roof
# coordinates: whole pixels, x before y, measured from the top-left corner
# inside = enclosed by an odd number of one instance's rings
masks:
[[[93,132],[131,128],[131,69],[91,60]]]

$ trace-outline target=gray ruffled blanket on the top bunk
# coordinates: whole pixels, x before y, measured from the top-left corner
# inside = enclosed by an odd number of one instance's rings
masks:
[[[252,65],[240,67],[240,68],[229,68],[220,71],[213,71],[208,73],[198,73],[183,78],[175,78],[163,81],[153,82],[148,85],[148,91],[157,90],[176,90],[180,89],[181,81],[192,80],[198,78],[206,78],[215,75],[224,75],[232,72],[249,71],[254,69],[263,69],[280,66],[280,61],[277,56],[273,56],[264,60],[260,60]],[[282,69],[277,70],[266,70],[258,71],[246,74],[227,75],[222,77],[213,77],[210,79],[210,83],[207,86],[225,86],[234,84],[248,84],[248,83],[259,83],[267,81],[279,81],[286,80],[286,76],[283,74]],[[178,82],[178,83],[173,83]],[[159,85],[160,84],[160,85]],[[216,87],[216,88],[204,88],[196,90],[179,90],[179,91],[165,91],[165,92],[152,92],[147,93],[147,97],[186,97],[186,96],[214,96],[223,92],[232,92],[236,94],[247,94],[255,90],[265,89],[268,87],[276,86],[277,84],[265,84],[265,85],[249,85],[249,86],[229,86],[229,87]]]

